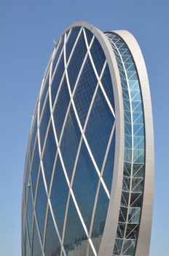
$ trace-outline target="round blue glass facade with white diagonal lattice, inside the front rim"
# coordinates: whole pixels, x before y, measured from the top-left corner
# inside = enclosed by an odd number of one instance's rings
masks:
[[[114,113],[100,42],[80,26],[66,31],[52,53],[31,128],[23,255],[98,254],[114,170]]]

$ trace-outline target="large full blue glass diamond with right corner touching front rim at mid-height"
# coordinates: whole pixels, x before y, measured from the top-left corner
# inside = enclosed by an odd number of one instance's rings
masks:
[[[103,163],[113,124],[114,116],[112,115],[109,105],[106,103],[106,99],[99,87],[85,132],[87,142],[90,145],[93,157],[95,158],[99,169],[101,169]]]

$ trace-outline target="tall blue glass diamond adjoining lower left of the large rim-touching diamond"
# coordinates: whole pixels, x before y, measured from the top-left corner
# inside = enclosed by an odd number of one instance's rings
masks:
[[[73,191],[88,232],[90,230],[98,180],[98,174],[83,141],[76,166]]]

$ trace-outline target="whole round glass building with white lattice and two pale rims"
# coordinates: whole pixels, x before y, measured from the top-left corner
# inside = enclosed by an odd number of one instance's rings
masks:
[[[23,256],[148,256],[149,81],[128,31],[74,23],[44,73],[25,159]]]

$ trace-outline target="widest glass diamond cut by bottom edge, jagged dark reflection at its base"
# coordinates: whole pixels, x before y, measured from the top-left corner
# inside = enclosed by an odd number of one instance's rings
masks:
[[[87,236],[84,232],[82,222],[79,219],[72,198],[70,199],[68,206],[68,217],[63,246],[67,256],[84,256],[87,252]]]

